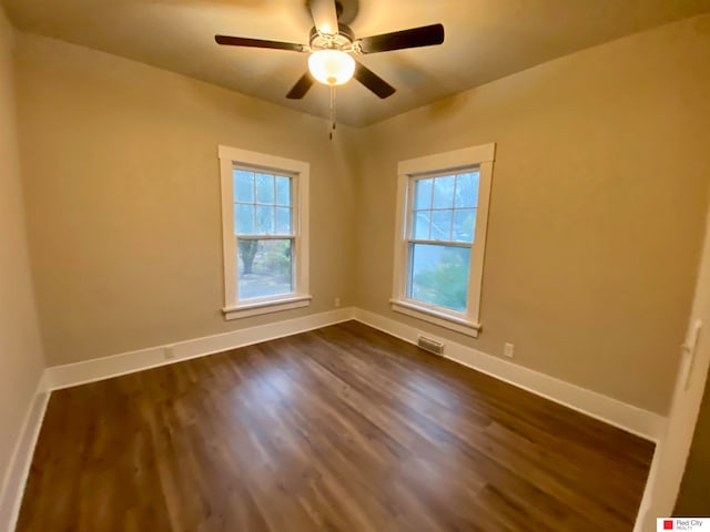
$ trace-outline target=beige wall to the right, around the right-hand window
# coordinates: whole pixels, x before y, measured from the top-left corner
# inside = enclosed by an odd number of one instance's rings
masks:
[[[362,130],[358,305],[666,413],[710,182],[710,18]],[[463,68],[476,68],[475,64]],[[478,339],[392,313],[396,165],[497,142]]]

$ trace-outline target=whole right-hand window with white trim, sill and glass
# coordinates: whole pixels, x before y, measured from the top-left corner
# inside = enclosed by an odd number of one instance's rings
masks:
[[[486,144],[399,163],[394,310],[478,336],[494,155]]]

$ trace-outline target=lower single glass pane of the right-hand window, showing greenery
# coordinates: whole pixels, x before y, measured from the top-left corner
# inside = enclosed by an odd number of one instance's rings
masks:
[[[409,244],[407,297],[465,311],[470,249],[436,244]]]

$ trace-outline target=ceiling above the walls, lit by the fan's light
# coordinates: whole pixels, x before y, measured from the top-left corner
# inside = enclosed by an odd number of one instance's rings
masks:
[[[2,0],[21,30],[103,50],[327,115],[328,89],[286,100],[306,54],[220,47],[215,33],[307,43],[305,0]],[[379,100],[357,82],[337,91],[338,122],[366,125],[672,20],[710,0],[343,0],[357,37],[435,22],[440,47],[361,57],[397,92]]]

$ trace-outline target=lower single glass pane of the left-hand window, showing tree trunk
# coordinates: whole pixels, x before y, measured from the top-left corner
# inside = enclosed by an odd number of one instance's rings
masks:
[[[291,239],[240,239],[237,244],[239,300],[293,293]]]

